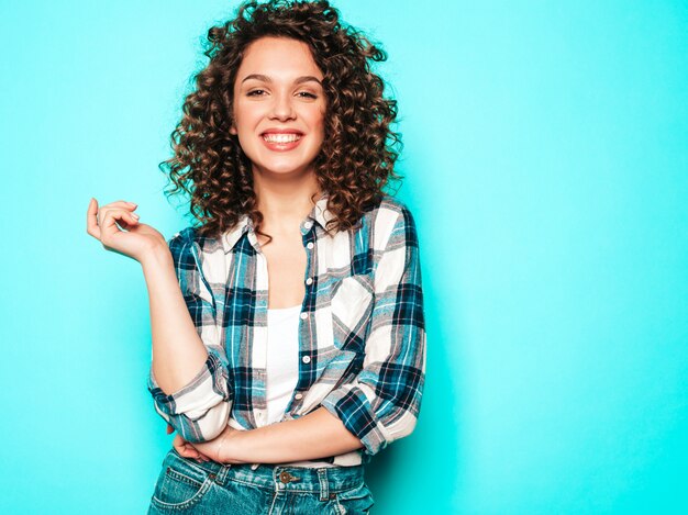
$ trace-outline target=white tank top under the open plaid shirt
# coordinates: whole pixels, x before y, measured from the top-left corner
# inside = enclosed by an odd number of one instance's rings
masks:
[[[267,310],[267,424],[281,421],[299,380],[301,304]],[[290,461],[292,467],[335,467],[326,461]]]

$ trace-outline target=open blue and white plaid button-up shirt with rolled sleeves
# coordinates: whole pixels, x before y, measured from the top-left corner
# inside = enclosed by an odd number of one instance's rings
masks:
[[[326,201],[321,197],[300,225],[308,261],[299,377],[282,421],[324,406],[364,448],[298,463],[355,466],[409,435],[419,416],[425,378],[419,242],[411,212],[390,195],[357,226],[328,236]],[[170,395],[151,369],[148,390],[156,411],[192,443],[228,424],[266,425],[268,269],[253,228],[244,215],[220,238],[189,226],[168,240],[209,356]]]

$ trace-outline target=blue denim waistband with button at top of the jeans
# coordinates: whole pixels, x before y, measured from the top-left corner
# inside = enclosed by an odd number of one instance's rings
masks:
[[[167,454],[163,464],[173,463],[184,467],[187,473],[196,475],[200,482],[210,477],[220,485],[235,481],[270,491],[320,493],[321,499],[328,499],[333,493],[349,490],[364,483],[363,464],[311,468],[262,463],[254,470],[251,463],[198,462],[181,457],[174,448]]]

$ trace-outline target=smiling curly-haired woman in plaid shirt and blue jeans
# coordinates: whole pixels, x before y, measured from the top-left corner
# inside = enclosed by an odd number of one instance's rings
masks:
[[[208,40],[164,163],[200,225],[166,240],[135,204],[88,209],[148,289],[177,430],[149,513],[366,513],[364,464],[413,430],[425,372],[415,224],[381,191],[386,56],[326,1],[244,3]]]

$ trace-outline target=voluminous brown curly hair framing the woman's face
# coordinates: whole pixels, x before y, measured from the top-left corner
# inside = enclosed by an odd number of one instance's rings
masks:
[[[384,98],[384,80],[370,69],[370,61],[384,61],[387,54],[343,25],[326,0],[244,1],[234,20],[208,31],[203,54],[210,63],[193,76],[196,90],[171,133],[175,155],[159,165],[175,184],[165,193],[190,195],[190,213],[203,236],[219,237],[248,214],[256,233],[271,239],[260,232],[252,164],[230,134],[237,69],[247,46],[263,36],[307,43],[323,72],[324,141],[313,166],[334,215],[325,229],[347,231],[379,204],[390,179],[403,178],[393,169],[402,143],[390,128],[397,101]]]

